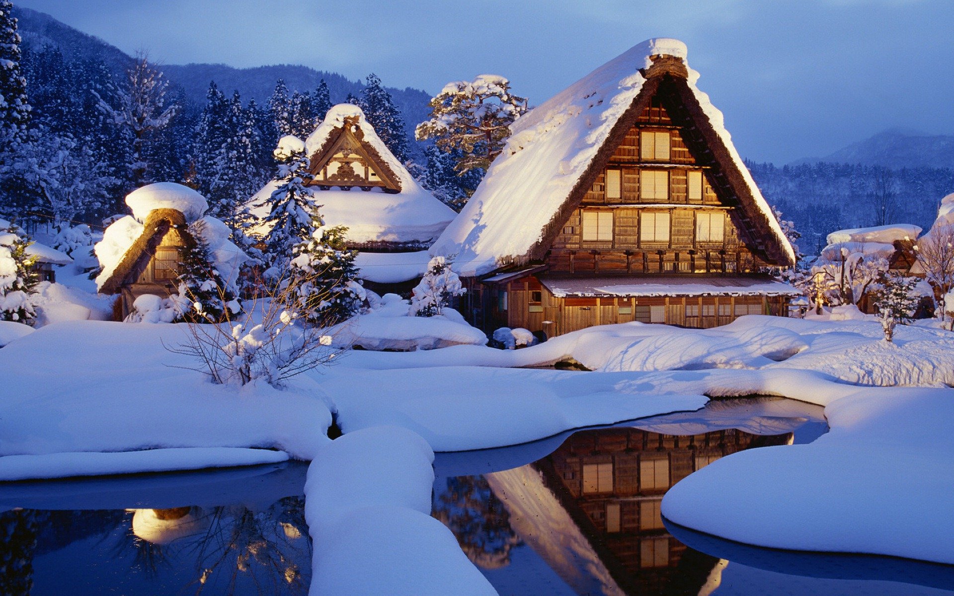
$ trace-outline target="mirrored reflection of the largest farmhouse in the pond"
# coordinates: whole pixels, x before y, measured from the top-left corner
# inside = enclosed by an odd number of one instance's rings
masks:
[[[686,593],[695,594],[708,581],[717,560],[687,549],[666,531],[659,513],[663,494],[721,457],[749,447],[782,444],[790,437],[760,437],[731,429],[684,437],[634,428],[581,431],[532,467],[488,474],[487,480],[495,494],[503,495],[508,509],[526,508],[527,502],[539,500],[538,494],[548,493],[562,508],[559,514],[569,516],[572,527],[544,529],[534,526],[555,519],[556,513],[538,515],[528,509],[521,516],[510,511],[514,527],[529,525],[521,530],[522,538],[568,583],[573,578],[572,586],[587,585],[577,577],[580,568],[586,568],[595,574],[590,585],[602,586],[602,593],[683,593],[688,583],[693,589]],[[548,545],[535,545],[524,534],[545,537],[539,540]],[[579,545],[580,539],[573,536],[585,537],[588,544]],[[570,561],[587,563],[568,565]]]

